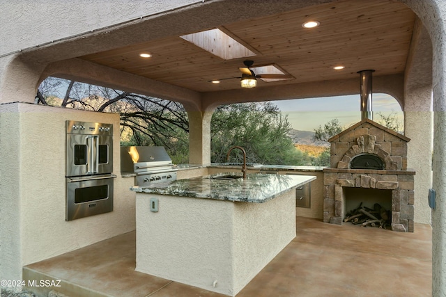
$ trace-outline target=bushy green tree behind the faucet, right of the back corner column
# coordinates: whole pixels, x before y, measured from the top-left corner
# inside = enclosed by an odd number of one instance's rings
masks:
[[[309,156],[294,147],[290,130],[287,118],[270,102],[219,106],[211,121],[211,161],[226,162],[229,148],[240,145],[249,163],[304,165]],[[230,161],[242,161],[241,152],[231,152]]]

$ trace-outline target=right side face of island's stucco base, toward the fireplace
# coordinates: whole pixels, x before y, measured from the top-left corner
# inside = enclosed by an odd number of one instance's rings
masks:
[[[234,279],[236,292],[295,238],[294,206],[294,190],[265,203],[235,204],[234,275],[243,275]]]

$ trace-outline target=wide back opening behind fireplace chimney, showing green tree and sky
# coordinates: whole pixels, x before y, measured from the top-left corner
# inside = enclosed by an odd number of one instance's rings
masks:
[[[380,93],[374,97],[376,121],[402,134],[403,113],[397,100]],[[211,162],[227,163],[225,153],[229,147],[240,145],[248,147],[250,163],[329,166],[326,141],[360,121],[359,106],[359,95],[219,106],[211,122]],[[268,129],[263,125],[268,125]],[[280,135],[286,139],[286,145],[270,141],[269,133],[274,129],[282,129]],[[324,133],[325,138],[318,132]],[[290,141],[295,148],[286,150],[285,147],[291,147]],[[274,156],[268,151],[275,152]]]

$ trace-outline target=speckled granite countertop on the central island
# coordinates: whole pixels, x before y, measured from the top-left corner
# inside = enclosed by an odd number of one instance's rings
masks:
[[[239,175],[240,179],[217,179],[222,175]],[[262,203],[316,179],[311,175],[263,173],[247,174],[245,180],[241,177],[241,173],[217,173],[190,179],[177,179],[173,182],[148,187],[133,186],[130,190],[139,193]]]

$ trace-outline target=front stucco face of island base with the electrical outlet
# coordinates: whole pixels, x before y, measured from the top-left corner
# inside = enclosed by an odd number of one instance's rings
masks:
[[[159,200],[156,213],[150,198]],[[220,290],[230,289],[233,203],[146,193],[136,200],[136,271],[204,289],[217,280]]]

